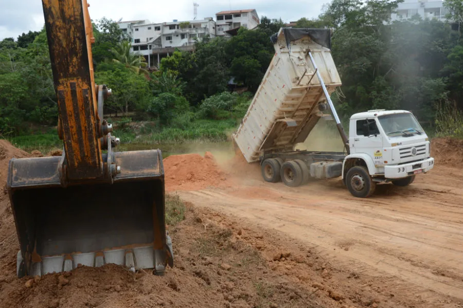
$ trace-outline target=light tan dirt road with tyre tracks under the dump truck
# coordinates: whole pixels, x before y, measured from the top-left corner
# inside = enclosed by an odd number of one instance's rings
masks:
[[[359,275],[358,287],[387,290],[400,306],[463,306],[463,172],[458,168],[436,166],[409,187],[379,185],[368,199],[353,198],[339,179],[290,188],[254,177],[179,194],[196,206],[276,229],[288,242],[315,248],[337,270]],[[355,288],[343,276],[329,283]]]

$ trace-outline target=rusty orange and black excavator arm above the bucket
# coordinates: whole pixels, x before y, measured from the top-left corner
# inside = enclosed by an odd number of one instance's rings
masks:
[[[111,149],[108,140],[113,147],[118,141],[110,134],[111,125],[102,120],[102,100],[111,91],[95,85],[91,50],[95,39],[87,2],[42,0],[42,4],[64,143],[63,176],[66,181],[110,179],[118,168],[103,161],[102,150]]]

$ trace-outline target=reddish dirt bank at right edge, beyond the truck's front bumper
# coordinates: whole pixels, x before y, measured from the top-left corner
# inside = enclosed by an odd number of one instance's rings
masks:
[[[431,140],[431,157],[436,165],[457,167],[463,164],[463,140],[450,137]]]

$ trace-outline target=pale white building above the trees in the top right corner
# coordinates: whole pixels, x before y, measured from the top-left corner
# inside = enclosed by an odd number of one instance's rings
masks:
[[[396,12],[391,14],[392,21],[407,20],[418,14],[423,19],[436,18],[438,21],[445,22],[448,10],[443,6],[444,2],[439,0],[405,0],[399,3]]]

